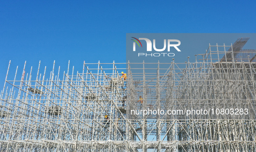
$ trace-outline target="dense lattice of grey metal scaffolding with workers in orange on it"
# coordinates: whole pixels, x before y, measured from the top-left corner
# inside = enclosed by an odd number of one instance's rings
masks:
[[[256,152],[256,50],[243,49],[248,40],[209,45],[183,63],[84,62],[78,71],[68,63],[61,72],[54,62],[48,73],[40,62],[10,62],[0,152]],[[136,113],[157,109],[164,114]]]

